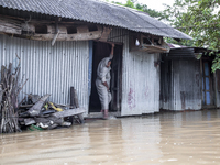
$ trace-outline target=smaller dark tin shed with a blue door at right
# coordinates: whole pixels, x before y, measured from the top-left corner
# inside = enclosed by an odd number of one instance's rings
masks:
[[[162,55],[161,109],[201,110],[217,108],[220,73],[212,73],[210,50],[169,44]]]

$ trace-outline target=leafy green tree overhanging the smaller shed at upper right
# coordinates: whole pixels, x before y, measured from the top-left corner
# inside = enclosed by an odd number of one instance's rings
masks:
[[[184,45],[220,50],[220,1],[219,0],[176,0],[173,7],[167,6],[163,19],[174,28],[194,37]],[[210,54],[213,54],[210,53]],[[220,68],[220,55],[213,61],[212,70]]]

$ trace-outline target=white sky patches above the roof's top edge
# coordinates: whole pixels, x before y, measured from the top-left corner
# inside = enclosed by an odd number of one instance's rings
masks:
[[[127,2],[127,0],[113,0],[113,1],[122,3]],[[163,3],[172,6],[174,1],[175,0],[138,0],[139,3],[146,4],[148,9],[155,9],[156,11],[162,11],[165,9],[163,7]]]

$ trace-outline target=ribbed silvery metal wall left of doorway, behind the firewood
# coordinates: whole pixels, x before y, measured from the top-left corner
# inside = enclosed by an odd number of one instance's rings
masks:
[[[29,78],[21,97],[25,94],[51,94],[51,101],[69,103],[69,88],[78,92],[81,107],[88,109],[88,42],[40,42],[0,35],[0,65],[18,64],[21,74]],[[22,77],[22,76],[21,76]]]

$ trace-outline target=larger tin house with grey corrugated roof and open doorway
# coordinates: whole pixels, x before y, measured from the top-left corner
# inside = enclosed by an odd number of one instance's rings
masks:
[[[87,114],[100,111],[96,70],[110,43],[110,109],[133,116],[160,111],[160,54],[169,51],[163,36],[191,38],[146,13],[95,0],[0,0],[0,64],[21,57],[23,95],[69,103],[74,86]]]

